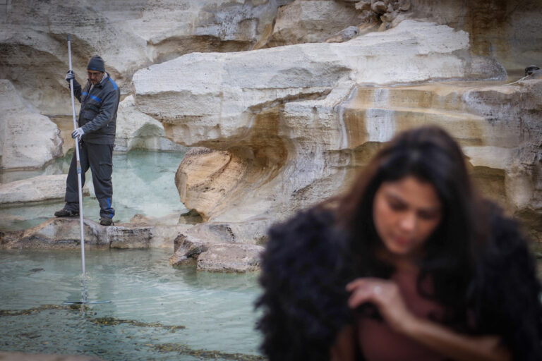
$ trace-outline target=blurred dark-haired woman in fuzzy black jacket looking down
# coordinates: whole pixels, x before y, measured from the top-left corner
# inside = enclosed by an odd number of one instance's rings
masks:
[[[400,133],[342,197],[270,229],[275,360],[542,360],[541,284],[515,221],[444,130]]]

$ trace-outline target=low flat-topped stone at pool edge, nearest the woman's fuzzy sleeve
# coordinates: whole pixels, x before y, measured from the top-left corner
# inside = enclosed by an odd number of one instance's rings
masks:
[[[260,269],[258,245],[215,244],[198,257],[198,269],[212,272],[246,272]]]

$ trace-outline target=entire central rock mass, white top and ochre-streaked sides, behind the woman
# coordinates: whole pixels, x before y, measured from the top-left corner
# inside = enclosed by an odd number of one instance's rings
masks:
[[[341,44],[182,56],[134,75],[135,104],[171,139],[208,148],[176,175],[205,220],[281,219],[344,189],[398,131],[435,123],[464,147],[481,188],[533,226],[540,80],[502,85],[498,63],[470,54],[466,32],[405,20]]]

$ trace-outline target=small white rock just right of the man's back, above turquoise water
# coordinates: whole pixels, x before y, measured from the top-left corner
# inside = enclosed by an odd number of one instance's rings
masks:
[[[186,147],[165,137],[162,123],[135,108],[133,96],[130,95],[119,104],[115,152],[128,152],[131,149],[186,152]]]

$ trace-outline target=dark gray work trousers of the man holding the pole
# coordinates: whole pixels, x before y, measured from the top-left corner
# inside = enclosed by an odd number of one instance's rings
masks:
[[[100,217],[113,218],[115,210],[112,207],[113,183],[113,147],[112,144],[92,144],[80,142],[79,159],[81,164],[81,186],[85,185],[85,172],[92,172],[94,192],[100,203]],[[79,211],[79,192],[77,184],[76,153],[71,158],[68,178],[66,178],[66,208]]]

